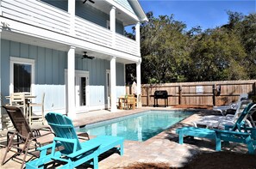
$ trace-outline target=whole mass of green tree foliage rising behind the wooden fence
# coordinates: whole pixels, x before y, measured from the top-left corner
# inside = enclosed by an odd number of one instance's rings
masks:
[[[256,78],[256,14],[228,11],[227,24],[204,31],[186,30],[173,15],[147,18],[140,26],[142,83]],[[128,69],[135,77],[135,67]]]

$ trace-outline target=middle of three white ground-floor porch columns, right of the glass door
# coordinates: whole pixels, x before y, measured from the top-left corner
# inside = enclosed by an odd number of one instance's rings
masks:
[[[116,112],[116,57],[110,60],[110,88],[111,88],[111,109],[110,112]]]

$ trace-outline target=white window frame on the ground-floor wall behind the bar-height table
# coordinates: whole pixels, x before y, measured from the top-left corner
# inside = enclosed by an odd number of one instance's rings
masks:
[[[9,94],[14,93],[14,63],[31,65],[31,87],[30,93],[34,94],[34,59],[22,57],[9,57]]]

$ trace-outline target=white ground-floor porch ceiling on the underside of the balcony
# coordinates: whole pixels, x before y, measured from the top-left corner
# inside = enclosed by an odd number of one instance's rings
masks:
[[[28,36],[20,33],[11,33],[9,31],[2,31],[2,33],[0,33],[0,38],[15,41],[15,42],[20,42],[28,45],[46,47],[46,48],[54,49],[58,51],[68,51],[70,47],[70,45],[60,44],[51,40],[40,39],[40,38],[36,38],[36,37],[32,37],[32,36]],[[80,47],[76,48],[76,53],[78,55],[82,56],[84,54],[84,51],[87,51],[87,54],[89,56],[93,56],[100,59],[106,59],[106,60],[111,59],[111,55],[104,54],[99,51],[92,51],[90,49],[80,48]],[[116,57],[116,62],[125,63],[125,64],[134,63],[134,61],[131,61],[122,57]]]

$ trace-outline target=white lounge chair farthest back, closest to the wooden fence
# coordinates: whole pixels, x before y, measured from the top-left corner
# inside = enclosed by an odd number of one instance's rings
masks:
[[[240,101],[248,99],[248,94],[240,94],[239,99],[236,102],[230,103],[227,106],[214,106],[213,110],[214,111],[219,111],[222,113],[223,116],[227,113],[228,110],[236,110]]]

